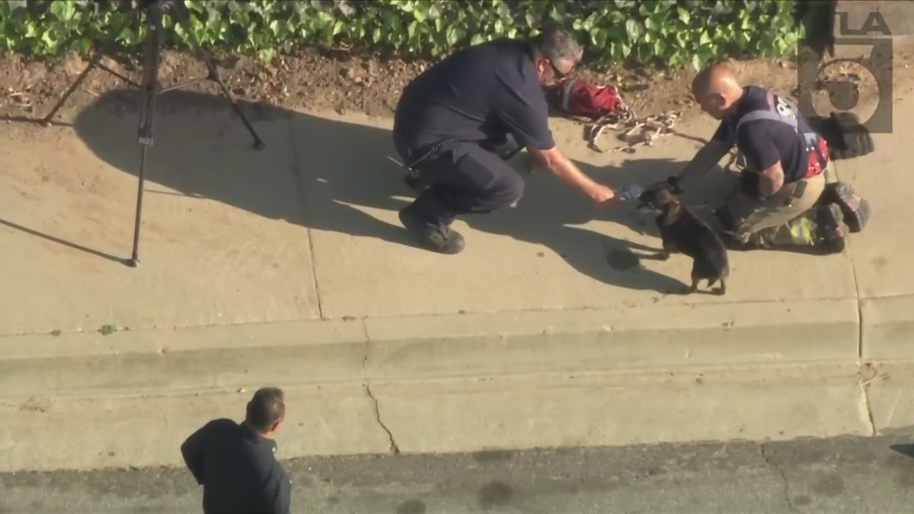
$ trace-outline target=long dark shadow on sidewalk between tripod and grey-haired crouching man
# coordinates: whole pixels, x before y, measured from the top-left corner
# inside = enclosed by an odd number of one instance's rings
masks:
[[[134,176],[139,155],[134,134],[141,100],[137,91],[111,91],[80,112],[74,123],[93,153]],[[378,190],[393,187],[398,177],[385,173],[389,167],[384,159],[387,141],[381,137],[341,134],[326,124],[301,123],[304,114],[239,102],[267,145],[257,151],[238,116],[229,110],[228,100],[221,96],[168,91],[158,104],[154,147],[145,175],[147,195],[208,198],[315,230],[412,244],[399,225],[377,220],[347,205],[345,196],[337,194],[345,188],[341,184],[353,189],[356,198],[367,196],[372,189],[377,195]],[[309,135],[319,131],[329,131],[333,141],[311,143]],[[341,145],[356,147],[356,151]],[[368,158],[379,166],[370,169]],[[397,205],[397,200],[388,198],[376,207],[394,209]]]

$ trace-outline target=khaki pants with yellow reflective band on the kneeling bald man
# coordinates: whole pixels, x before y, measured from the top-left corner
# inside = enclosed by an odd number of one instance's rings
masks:
[[[822,197],[826,176],[834,177],[832,163],[824,173],[787,184],[763,200],[749,198],[737,187],[727,202],[734,239],[762,247],[816,244],[819,238],[810,213]]]

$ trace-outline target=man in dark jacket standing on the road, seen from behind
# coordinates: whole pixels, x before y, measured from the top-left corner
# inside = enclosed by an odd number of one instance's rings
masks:
[[[248,402],[244,422],[213,420],[181,444],[187,468],[203,486],[206,514],[289,514],[292,480],[273,441],[284,418],[282,390],[262,388]]]

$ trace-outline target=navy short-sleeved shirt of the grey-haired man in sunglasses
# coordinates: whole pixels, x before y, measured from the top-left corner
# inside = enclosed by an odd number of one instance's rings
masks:
[[[556,145],[548,114],[526,42],[497,39],[457,50],[412,80],[400,97],[394,132],[411,148],[510,134],[518,145],[546,150]]]

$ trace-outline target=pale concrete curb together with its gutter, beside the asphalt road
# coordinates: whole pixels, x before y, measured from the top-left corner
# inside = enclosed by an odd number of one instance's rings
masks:
[[[268,383],[295,406],[283,457],[906,430],[914,364],[898,361],[912,357],[911,301],[8,337],[0,471],[180,465],[186,434],[239,417]],[[74,443],[74,430],[108,435]]]

